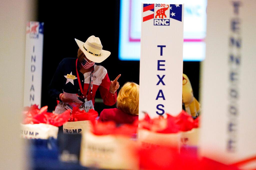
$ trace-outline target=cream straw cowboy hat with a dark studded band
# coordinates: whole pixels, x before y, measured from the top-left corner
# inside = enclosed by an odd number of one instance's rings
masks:
[[[75,38],[77,45],[83,51],[84,55],[92,62],[100,63],[110,56],[110,51],[102,49],[99,37],[90,36],[86,42],[82,42]]]

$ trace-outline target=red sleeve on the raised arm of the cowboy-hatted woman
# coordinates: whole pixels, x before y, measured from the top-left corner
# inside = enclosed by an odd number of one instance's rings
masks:
[[[99,86],[99,90],[100,90],[100,95],[101,98],[103,99],[103,103],[107,106],[112,106],[116,103],[116,97],[117,97],[117,93],[115,92],[115,94],[112,94],[109,92],[109,87],[110,87],[110,80],[109,80],[109,75],[108,73],[106,73],[104,79],[102,79],[102,82]]]

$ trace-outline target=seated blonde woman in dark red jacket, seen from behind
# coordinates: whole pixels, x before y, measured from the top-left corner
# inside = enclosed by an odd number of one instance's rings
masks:
[[[117,96],[114,109],[104,109],[98,121],[114,121],[116,123],[132,124],[138,119],[139,112],[139,85],[126,82]]]

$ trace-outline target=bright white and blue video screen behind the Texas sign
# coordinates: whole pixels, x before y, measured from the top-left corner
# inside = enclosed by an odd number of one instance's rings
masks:
[[[120,1],[119,59],[140,60],[142,0]],[[184,3],[184,61],[202,61],[205,58],[207,0],[148,0],[147,3]],[[149,11],[152,12],[152,11]],[[143,14],[144,15],[144,14]],[[146,14],[145,14],[146,15]]]

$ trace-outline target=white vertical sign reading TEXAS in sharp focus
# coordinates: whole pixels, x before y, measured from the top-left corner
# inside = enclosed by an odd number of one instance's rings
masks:
[[[183,20],[184,4],[142,4],[140,119],[182,110]]]

